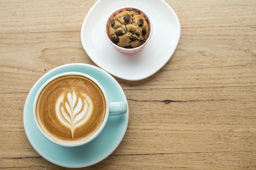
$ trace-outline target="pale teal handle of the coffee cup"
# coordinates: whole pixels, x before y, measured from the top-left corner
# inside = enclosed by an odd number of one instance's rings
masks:
[[[110,102],[109,103],[109,116],[123,115],[127,112],[126,102]]]

